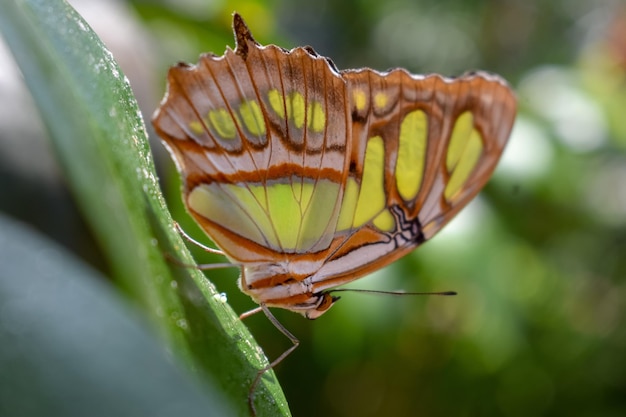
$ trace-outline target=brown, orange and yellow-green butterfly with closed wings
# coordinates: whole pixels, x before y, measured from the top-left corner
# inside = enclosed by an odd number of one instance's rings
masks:
[[[153,124],[241,291],[266,314],[315,319],[334,287],[408,254],[476,196],[515,96],[485,72],[340,71],[310,47],[260,45],[238,14],[233,28],[234,50],[170,69]]]

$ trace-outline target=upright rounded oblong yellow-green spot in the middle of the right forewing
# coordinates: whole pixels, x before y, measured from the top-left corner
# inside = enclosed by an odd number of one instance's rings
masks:
[[[396,185],[404,201],[411,201],[422,185],[426,163],[428,118],[422,110],[404,117],[400,124],[400,145],[396,161]]]

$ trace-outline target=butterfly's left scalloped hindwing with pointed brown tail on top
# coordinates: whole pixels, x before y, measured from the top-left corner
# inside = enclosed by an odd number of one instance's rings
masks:
[[[155,128],[189,212],[233,262],[320,253],[349,163],[346,83],[310,49],[262,47],[238,15],[234,28],[235,51],[170,70]]]

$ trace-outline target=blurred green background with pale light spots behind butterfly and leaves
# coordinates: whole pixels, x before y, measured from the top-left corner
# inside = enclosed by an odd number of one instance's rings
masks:
[[[340,69],[501,74],[520,109],[492,181],[435,239],[352,285],[459,295],[348,293],[314,322],[278,311],[301,341],[278,378],[295,416],[626,415],[623,3],[70,3],[120,63],[145,120],[170,65],[234,46],[235,10],[261,43],[311,45]],[[0,59],[0,210],[106,274],[4,48]],[[174,217],[207,242],[182,208],[173,164],[151,140]],[[219,259],[193,250],[201,263]],[[236,311],[254,307],[236,271],[210,276]],[[246,323],[270,358],[289,347],[265,317]]]

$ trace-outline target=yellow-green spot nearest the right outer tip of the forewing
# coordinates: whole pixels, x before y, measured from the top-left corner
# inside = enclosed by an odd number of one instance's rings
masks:
[[[450,173],[450,179],[444,190],[446,200],[454,197],[467,182],[480,159],[483,147],[483,139],[474,128],[472,114],[463,113],[452,130],[446,156],[446,167]]]

